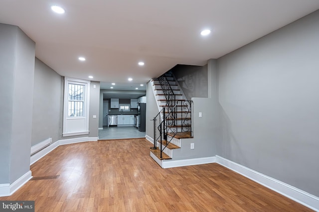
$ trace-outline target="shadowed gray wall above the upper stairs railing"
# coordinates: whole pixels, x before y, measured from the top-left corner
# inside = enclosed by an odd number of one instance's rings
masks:
[[[207,97],[207,65],[176,65],[171,71],[187,100],[191,100],[192,97]]]

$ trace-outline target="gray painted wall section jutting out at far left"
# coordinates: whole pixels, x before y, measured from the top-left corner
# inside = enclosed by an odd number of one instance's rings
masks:
[[[0,125],[9,134],[1,133],[0,183],[11,184],[30,170],[35,43],[17,26],[0,24],[0,35],[1,90],[7,92],[1,114],[8,113]]]

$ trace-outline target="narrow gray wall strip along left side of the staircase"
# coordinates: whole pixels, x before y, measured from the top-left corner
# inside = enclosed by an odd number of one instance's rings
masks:
[[[145,134],[154,139],[154,122],[151,121],[160,112],[153,90],[151,81],[146,84],[146,130]]]

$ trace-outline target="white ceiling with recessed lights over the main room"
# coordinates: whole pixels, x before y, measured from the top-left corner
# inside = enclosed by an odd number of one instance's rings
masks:
[[[66,12],[53,13],[54,4]],[[93,75],[102,88],[132,77],[128,89],[135,89],[176,64],[205,65],[317,9],[319,0],[1,0],[0,22],[19,26],[35,41],[36,57],[63,76]],[[205,28],[212,33],[202,37]]]

